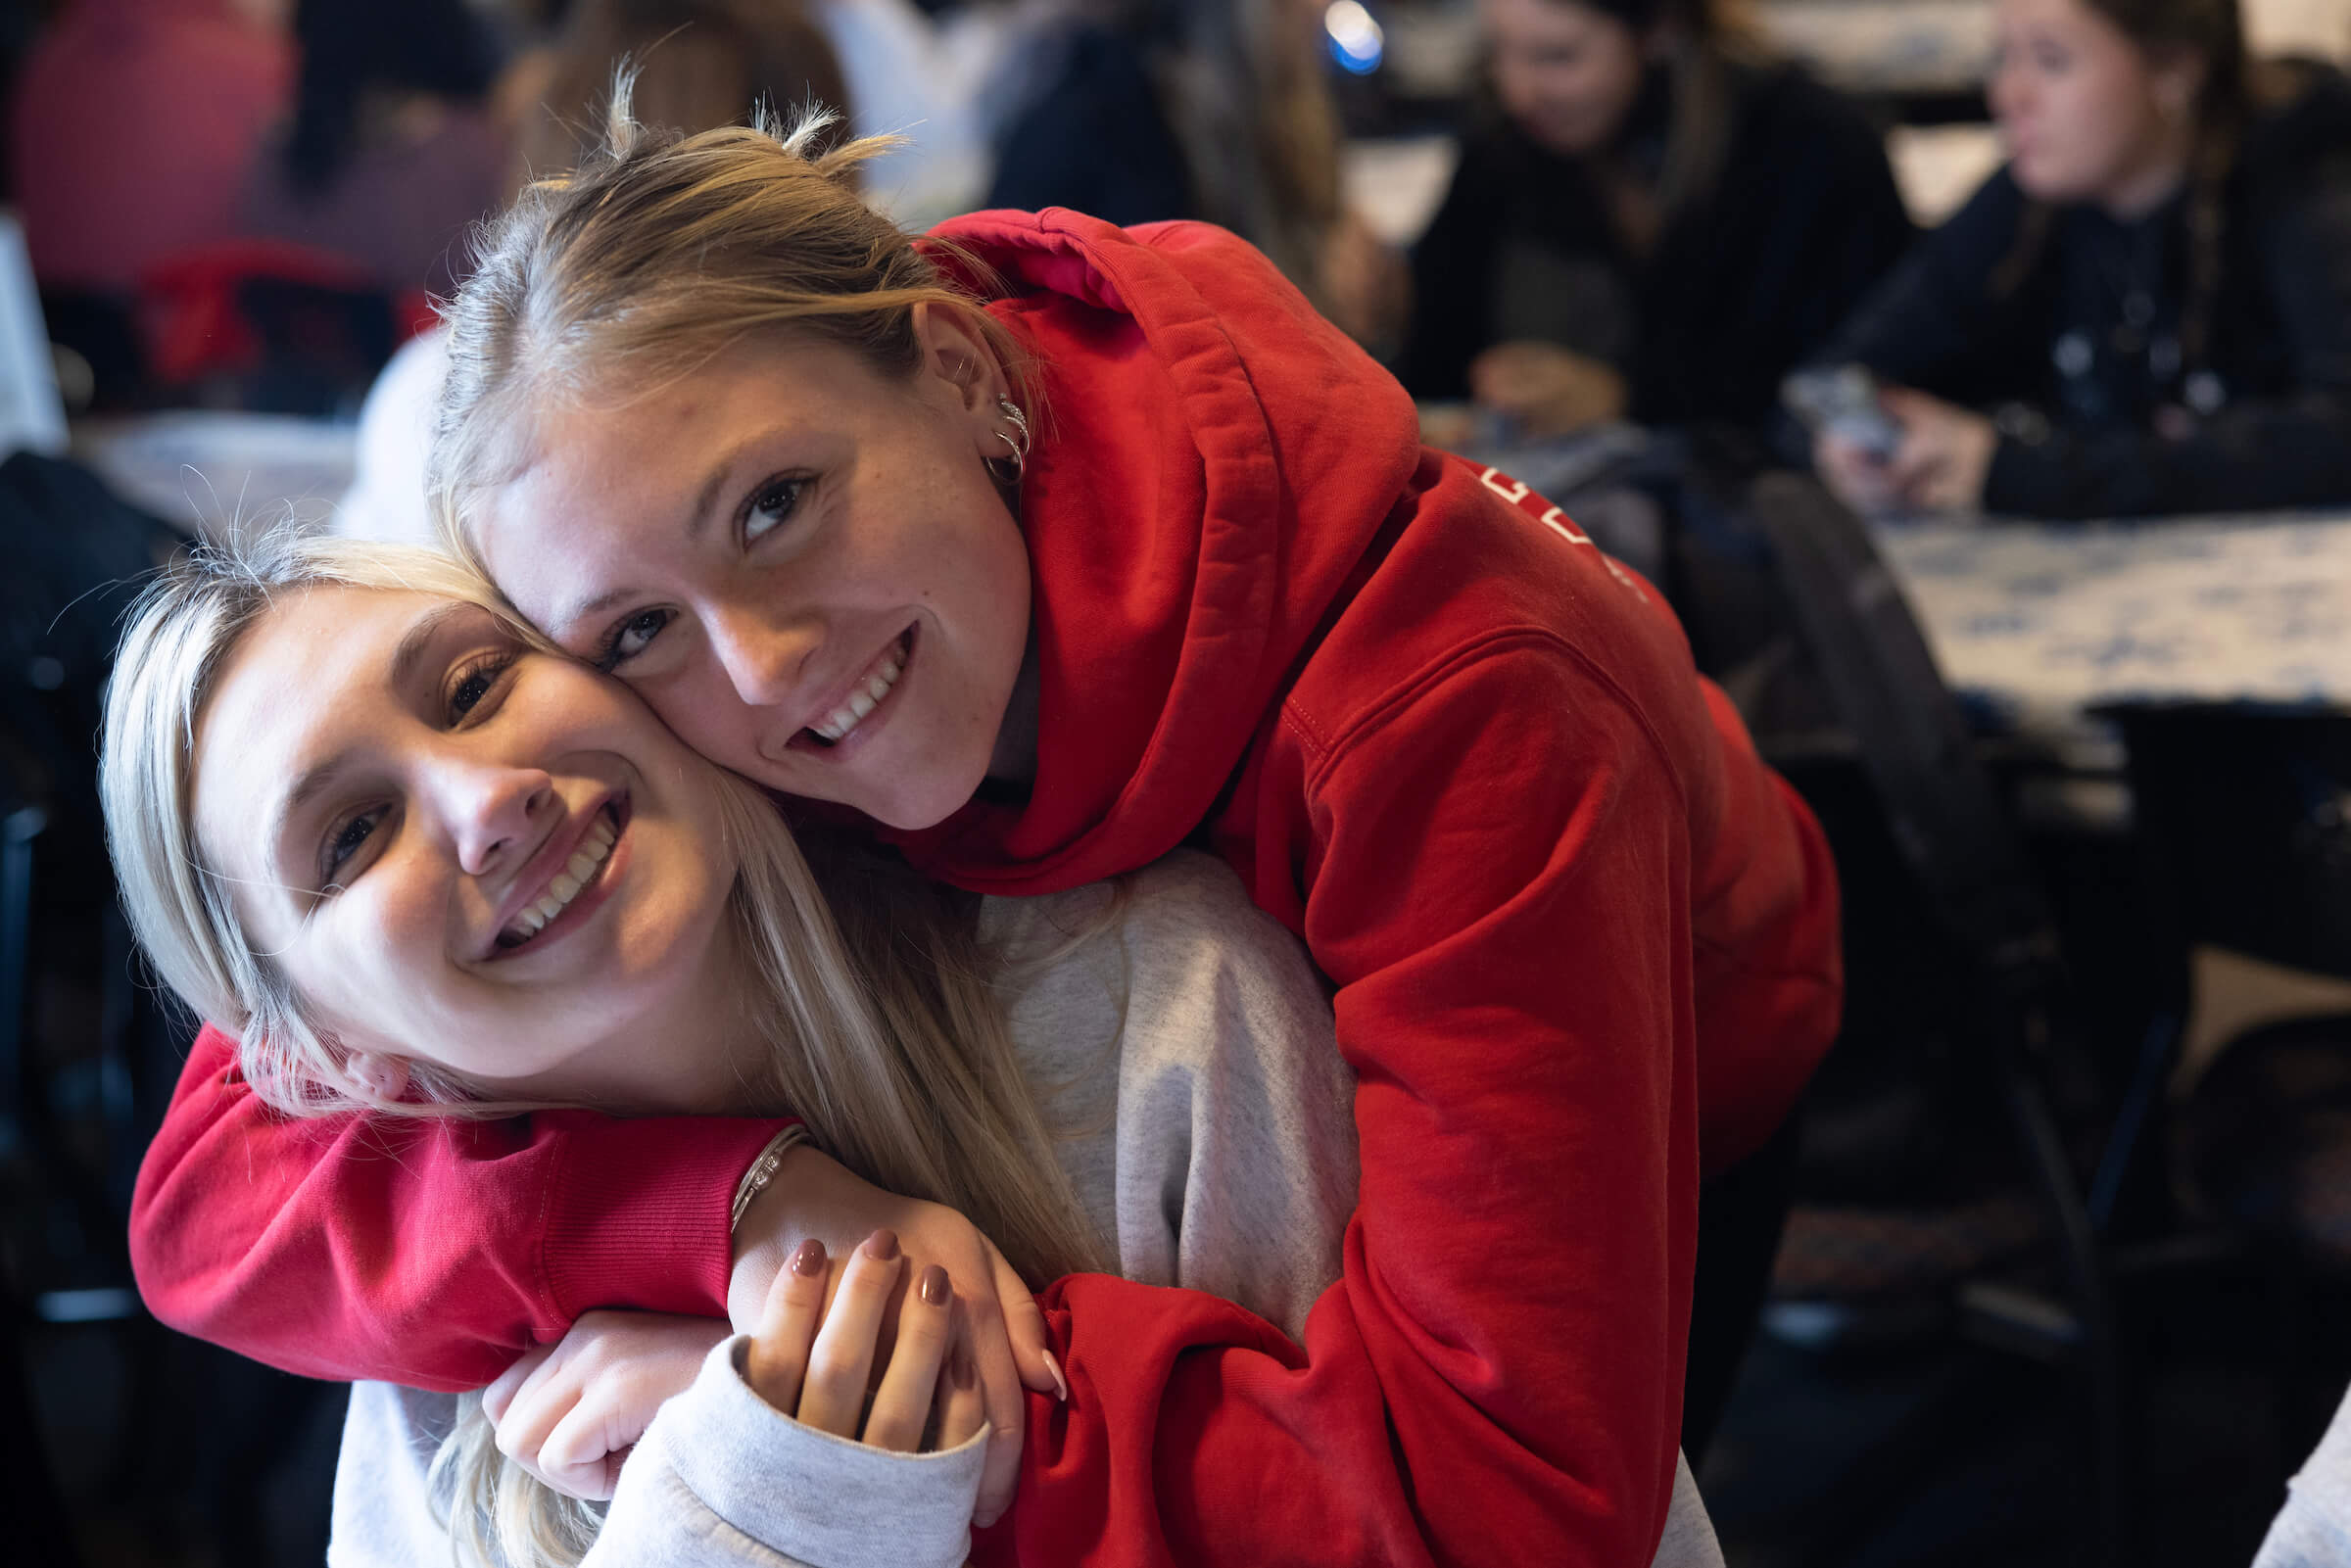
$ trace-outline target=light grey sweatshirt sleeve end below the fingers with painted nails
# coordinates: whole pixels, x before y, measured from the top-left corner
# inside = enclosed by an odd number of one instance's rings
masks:
[[[628,1472],[654,1460],[644,1481],[670,1472],[741,1535],[816,1568],[952,1566],[971,1554],[985,1427],[943,1453],[891,1453],[816,1432],[752,1392],[748,1349],[748,1335],[719,1342],[694,1387],[661,1408],[623,1467],[623,1493]],[[621,1512],[616,1497],[607,1535],[623,1523]]]

